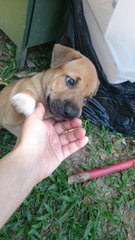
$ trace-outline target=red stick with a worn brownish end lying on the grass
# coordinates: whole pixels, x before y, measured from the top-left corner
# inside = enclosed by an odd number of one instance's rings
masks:
[[[94,178],[105,176],[114,172],[123,171],[132,167],[135,167],[135,159],[129,159],[124,162],[112,164],[98,169],[87,170],[79,174],[72,175],[68,178],[68,183],[73,184],[79,182],[86,182]]]

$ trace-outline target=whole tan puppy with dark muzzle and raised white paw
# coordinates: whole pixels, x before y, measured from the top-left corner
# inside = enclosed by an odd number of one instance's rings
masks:
[[[98,86],[95,67],[88,58],[55,44],[49,70],[14,81],[0,92],[0,126],[17,136],[37,102],[44,104],[45,118],[60,121],[79,117]]]

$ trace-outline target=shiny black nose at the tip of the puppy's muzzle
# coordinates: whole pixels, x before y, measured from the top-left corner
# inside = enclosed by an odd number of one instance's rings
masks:
[[[63,113],[66,118],[79,117],[80,109],[77,106],[73,105],[72,103],[65,102]]]

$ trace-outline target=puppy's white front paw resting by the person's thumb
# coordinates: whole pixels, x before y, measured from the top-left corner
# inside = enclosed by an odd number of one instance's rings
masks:
[[[30,116],[36,107],[35,99],[26,93],[17,93],[11,98],[10,102],[16,111],[25,115],[25,117]]]

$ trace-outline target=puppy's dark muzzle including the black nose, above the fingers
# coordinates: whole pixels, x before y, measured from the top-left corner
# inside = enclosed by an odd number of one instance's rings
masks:
[[[48,99],[48,107],[50,113],[56,120],[67,120],[74,117],[79,117],[81,114],[80,108],[69,100],[61,101],[59,99]]]

